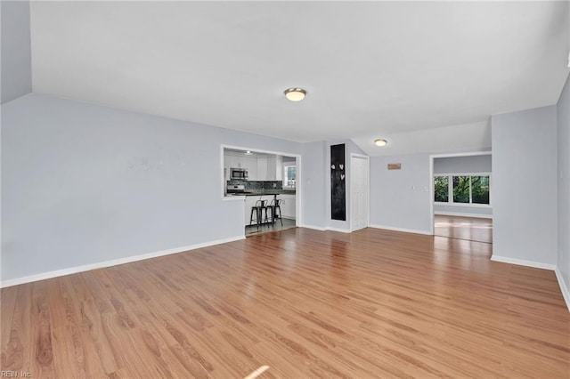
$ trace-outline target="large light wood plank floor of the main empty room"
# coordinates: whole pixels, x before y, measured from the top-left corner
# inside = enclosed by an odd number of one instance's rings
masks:
[[[265,233],[4,288],[2,370],[32,377],[568,378],[552,271],[491,245]]]

